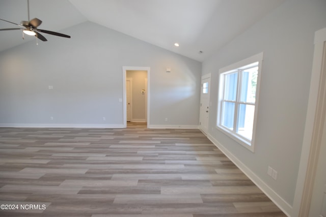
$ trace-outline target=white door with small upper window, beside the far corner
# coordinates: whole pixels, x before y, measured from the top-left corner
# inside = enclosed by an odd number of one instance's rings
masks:
[[[202,83],[201,83],[199,128],[205,134],[208,133],[209,92],[210,92],[210,74],[203,76]]]

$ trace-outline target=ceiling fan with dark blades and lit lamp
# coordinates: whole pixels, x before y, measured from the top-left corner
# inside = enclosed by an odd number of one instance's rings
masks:
[[[28,19],[30,20],[30,1],[27,0],[27,9],[28,9]],[[42,20],[38,19],[38,18],[34,18],[30,21],[21,21],[20,24],[8,21],[8,20],[4,20],[1,19],[5,22],[9,22],[15,25],[18,25],[19,28],[2,28],[0,30],[16,30],[16,29],[21,29],[23,32],[23,39],[24,39],[24,34],[26,35],[30,35],[30,36],[35,36],[36,38],[40,39],[41,41],[47,41],[47,39],[42,36],[39,32],[41,33],[46,33],[46,34],[50,34],[50,35],[54,35],[54,36],[60,36],[60,37],[65,37],[65,38],[70,38],[70,36],[65,35],[65,34],[61,34],[61,33],[56,33],[56,32],[52,32],[49,30],[44,30],[44,29],[39,29],[37,28],[39,25],[41,25]]]

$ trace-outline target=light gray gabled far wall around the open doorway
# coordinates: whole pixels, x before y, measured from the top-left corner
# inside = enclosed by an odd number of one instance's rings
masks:
[[[150,67],[151,125],[198,125],[200,62],[92,22],[61,32],[0,53],[0,126],[122,127],[122,66]]]

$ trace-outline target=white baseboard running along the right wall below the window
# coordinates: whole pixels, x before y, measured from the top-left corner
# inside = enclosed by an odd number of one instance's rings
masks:
[[[271,189],[261,178],[259,178],[253,171],[237,159],[228,149],[226,149],[218,140],[214,139],[210,134],[207,138],[218,147],[244,174],[246,174],[257,187],[267,195],[287,216],[292,212],[292,206],[288,204],[282,197],[280,197],[273,189]]]

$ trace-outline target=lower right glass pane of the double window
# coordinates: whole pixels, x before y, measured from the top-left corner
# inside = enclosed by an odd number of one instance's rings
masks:
[[[253,135],[255,106],[239,104],[236,133],[251,140]]]

